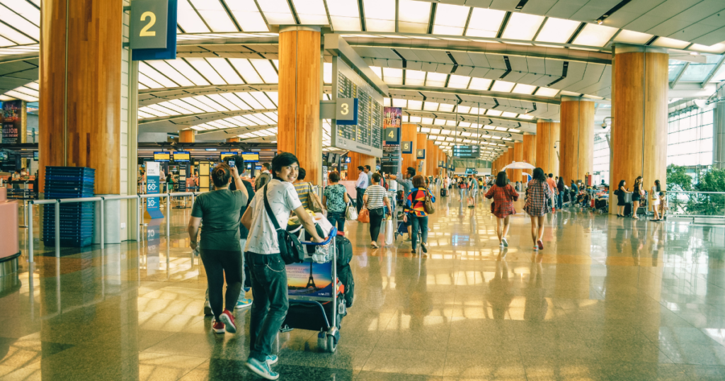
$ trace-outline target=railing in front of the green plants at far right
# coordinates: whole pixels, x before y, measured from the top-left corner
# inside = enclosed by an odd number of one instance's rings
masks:
[[[667,191],[666,197],[670,216],[725,218],[725,192]]]

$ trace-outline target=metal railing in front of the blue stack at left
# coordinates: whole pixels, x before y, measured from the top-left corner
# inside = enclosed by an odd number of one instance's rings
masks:
[[[156,194],[131,194],[131,195],[119,195],[119,196],[98,196],[98,197],[85,197],[85,198],[62,198],[62,199],[51,199],[51,200],[30,200],[28,202],[28,208],[26,208],[27,216],[30,221],[26,218],[26,224],[28,225],[28,262],[33,262],[33,205],[54,205],[54,230],[55,230],[55,256],[60,257],[60,205],[67,203],[79,203],[79,202],[100,202],[99,208],[99,239],[101,247],[105,245],[105,226],[104,226],[104,202],[112,200],[136,200],[136,240],[141,238],[141,221],[143,221],[144,214],[141,210],[141,199],[144,198],[166,198],[166,238],[169,239],[171,236],[171,197],[186,197],[191,196],[191,205],[194,205],[194,198],[199,192],[179,192],[179,193],[156,193]],[[43,226],[42,222],[40,224]]]

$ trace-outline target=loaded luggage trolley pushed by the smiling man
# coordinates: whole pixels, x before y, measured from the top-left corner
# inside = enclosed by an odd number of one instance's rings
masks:
[[[330,353],[337,349],[342,317],[347,314],[345,300],[339,295],[344,287],[337,279],[336,235],[337,229],[333,227],[325,242],[302,241],[302,245],[315,247],[315,253],[305,262],[286,266],[289,310],[282,323],[283,331],[292,328],[318,331],[318,348]],[[307,285],[302,286],[305,279]],[[320,284],[328,281],[328,285]]]

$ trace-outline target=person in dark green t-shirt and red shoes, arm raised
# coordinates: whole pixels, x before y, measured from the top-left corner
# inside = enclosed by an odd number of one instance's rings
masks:
[[[232,178],[238,190],[229,190]],[[212,332],[234,333],[236,324],[231,311],[234,311],[242,287],[239,210],[247,205],[249,194],[236,167],[229,168],[226,163],[214,168],[212,181],[214,190],[196,197],[187,231],[191,249],[196,250],[199,225],[204,224],[198,247],[207,272],[209,303],[214,315]],[[222,295],[225,279],[226,295]]]

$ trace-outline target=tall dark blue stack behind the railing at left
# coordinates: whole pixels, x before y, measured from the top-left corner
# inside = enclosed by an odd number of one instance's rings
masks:
[[[84,167],[46,167],[46,200],[94,197],[96,170]],[[51,208],[43,213],[43,243],[55,245],[55,214]],[[94,202],[60,204],[60,245],[83,247],[93,240]]]

